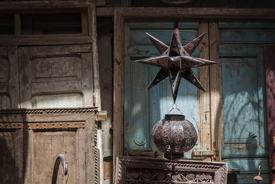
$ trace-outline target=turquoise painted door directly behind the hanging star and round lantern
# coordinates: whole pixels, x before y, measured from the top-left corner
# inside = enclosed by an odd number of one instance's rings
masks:
[[[150,132],[160,119],[164,118],[173,105],[168,79],[151,88],[145,89],[159,68],[133,61],[159,55],[146,32],[170,45],[174,28],[172,19],[131,19],[125,25],[124,57],[124,150],[125,154],[152,154],[155,149],[151,143]],[[180,20],[181,43],[186,44],[198,36],[197,19]],[[192,56],[199,57],[199,49]],[[196,69],[192,69],[197,74]],[[197,88],[181,80],[177,106],[197,128]],[[180,113],[180,112],[175,112]],[[185,156],[190,158],[190,152]]]

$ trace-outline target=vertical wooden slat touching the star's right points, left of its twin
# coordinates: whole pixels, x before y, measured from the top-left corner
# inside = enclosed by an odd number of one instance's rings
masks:
[[[208,42],[208,19],[201,19],[199,23],[199,35],[206,33],[201,43],[199,43],[199,57],[202,59],[209,59],[209,42]],[[209,79],[209,65],[199,67],[198,77],[206,92],[198,90],[199,100],[199,142],[201,147],[212,150],[211,139],[211,123],[210,123],[210,79]],[[211,157],[210,157],[211,158]]]

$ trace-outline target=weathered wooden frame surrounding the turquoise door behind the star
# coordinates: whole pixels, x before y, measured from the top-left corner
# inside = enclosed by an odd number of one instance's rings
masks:
[[[275,19],[273,9],[256,8],[97,8],[98,17],[114,15],[114,54],[113,54],[113,166],[117,156],[123,156],[124,136],[124,23],[129,18],[197,18],[201,19],[199,32],[208,33],[208,45],[201,44],[200,57],[219,61],[219,30],[217,19]],[[208,20],[209,19],[209,20]],[[209,23],[208,23],[209,21]],[[209,26],[209,28],[208,28]],[[209,47],[211,45],[211,47]],[[198,68],[198,75],[206,93],[199,98],[201,105],[199,120],[210,127],[211,137],[220,145],[223,134],[221,64]],[[210,75],[210,80],[209,80]],[[206,76],[206,79],[205,77]],[[208,82],[210,81],[210,83]],[[211,86],[210,86],[211,84]],[[210,90],[211,89],[211,90]],[[198,94],[202,95],[202,94]],[[209,97],[208,97],[209,96]],[[209,104],[210,102],[210,104]],[[208,112],[208,114],[203,114]],[[214,128],[218,125],[218,128]],[[203,128],[207,131],[207,128]],[[209,129],[208,129],[209,131]],[[204,132],[208,134],[209,132]],[[203,133],[202,133],[203,134]],[[211,140],[214,143],[214,140]],[[205,143],[209,145],[209,143]],[[210,147],[215,148],[214,145]],[[220,147],[216,147],[217,161],[221,161]],[[113,167],[115,169],[115,167]]]

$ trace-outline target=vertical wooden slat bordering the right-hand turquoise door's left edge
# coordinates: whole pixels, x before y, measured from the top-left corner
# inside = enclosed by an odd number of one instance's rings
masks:
[[[209,20],[210,60],[219,62],[210,65],[210,117],[211,137],[214,139],[214,157],[221,161],[221,142],[223,142],[223,95],[221,87],[221,61],[219,60],[219,28],[217,19]]]

